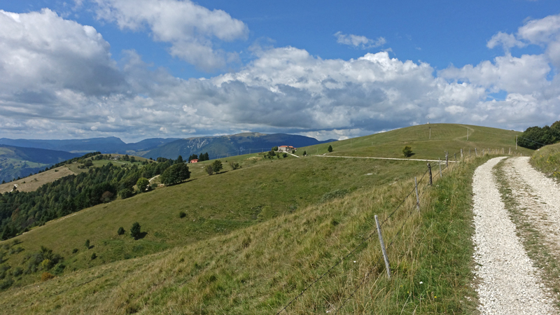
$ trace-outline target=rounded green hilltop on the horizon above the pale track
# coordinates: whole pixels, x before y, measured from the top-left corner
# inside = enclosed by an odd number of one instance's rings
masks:
[[[467,140],[467,130],[468,140]],[[431,133],[431,136],[430,136]],[[436,159],[444,155],[444,151],[449,154],[459,152],[461,148],[465,154],[470,150],[475,154],[475,148],[479,153],[482,149],[503,149],[504,153],[522,153],[531,155],[532,150],[517,147],[515,149],[515,136],[521,132],[512,130],[500,130],[491,127],[479,127],[472,125],[456,124],[430,124],[417,125],[390,132],[381,132],[370,136],[336,141],[330,144],[320,144],[298,148],[297,155],[307,154],[328,154],[328,146],[332,146],[334,151],[328,155],[349,155],[349,156],[372,156],[379,158],[402,158],[402,148],[412,146],[413,159]],[[453,156],[449,157],[454,158]]]

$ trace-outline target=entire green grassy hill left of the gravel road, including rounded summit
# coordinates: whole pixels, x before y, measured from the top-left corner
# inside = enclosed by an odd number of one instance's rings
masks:
[[[468,148],[488,153],[488,148],[503,147],[507,153],[514,135],[468,126],[472,135],[466,141],[463,125],[430,127],[432,139],[423,139],[426,125],[414,126],[334,142],[331,155],[401,158],[402,148],[409,145],[416,153],[411,159],[437,160],[443,151],[452,155],[461,148],[466,158]],[[327,147],[309,146],[297,154],[323,154]],[[325,314],[360,282],[363,290],[349,302],[348,311],[370,314],[373,304],[384,307],[382,314],[402,309],[408,314],[418,307],[422,314],[468,309],[463,297],[475,294],[465,286],[472,254],[469,183],[475,165],[484,160],[479,155],[445,171],[454,176],[444,176],[437,188],[421,190],[421,209],[426,210],[399,211],[388,222],[384,233],[396,239],[391,252],[395,280],[384,280],[377,263],[379,244],[372,241],[303,295],[288,314]],[[225,172],[208,176],[204,167],[212,161],[189,165],[192,174],[186,183],[99,204],[0,242],[1,281],[12,281],[0,293],[0,312],[274,313],[360,244],[373,230],[373,215],[385,218],[409,193],[414,176],[420,178],[426,170],[423,161],[269,160],[260,154],[227,160],[242,168],[225,167]],[[409,199],[405,208],[411,206]],[[138,240],[128,234],[134,222],[145,232]],[[117,233],[121,226],[125,235]],[[90,248],[84,246],[86,239]],[[64,268],[61,263],[40,265],[26,273],[30,257],[40,257],[41,246],[62,255]],[[43,272],[55,278],[41,282]],[[419,286],[419,281],[429,286]]]

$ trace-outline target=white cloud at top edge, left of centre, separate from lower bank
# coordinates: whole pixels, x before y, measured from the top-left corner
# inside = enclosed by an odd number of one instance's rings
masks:
[[[121,29],[148,28],[155,41],[171,43],[169,53],[199,69],[223,68],[235,53],[214,49],[213,41],[244,39],[248,27],[223,10],[209,10],[189,0],[95,0],[97,17]]]

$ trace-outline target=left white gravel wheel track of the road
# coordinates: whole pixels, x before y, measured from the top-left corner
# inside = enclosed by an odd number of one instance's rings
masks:
[[[478,167],[472,179],[475,214],[475,275],[481,314],[556,314],[500,198],[492,168]]]

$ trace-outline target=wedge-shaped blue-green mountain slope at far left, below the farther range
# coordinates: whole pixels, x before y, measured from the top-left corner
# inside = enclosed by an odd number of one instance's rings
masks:
[[[26,177],[79,154],[42,148],[0,145],[0,183]]]

